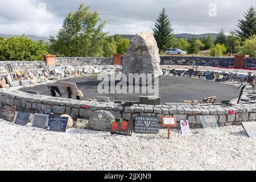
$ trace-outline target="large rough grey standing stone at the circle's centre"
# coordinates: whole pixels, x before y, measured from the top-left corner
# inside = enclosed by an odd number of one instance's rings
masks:
[[[159,64],[159,49],[154,35],[145,30],[130,40],[125,55],[123,55],[122,73],[127,78],[129,78],[129,73],[152,73],[152,79],[154,79],[163,75]]]

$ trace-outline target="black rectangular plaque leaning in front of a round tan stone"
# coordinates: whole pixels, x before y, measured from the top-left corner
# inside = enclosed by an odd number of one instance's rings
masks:
[[[66,132],[68,126],[68,117],[51,117],[48,121],[47,130]]]

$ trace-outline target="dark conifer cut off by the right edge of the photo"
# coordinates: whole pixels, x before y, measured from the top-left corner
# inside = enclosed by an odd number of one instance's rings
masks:
[[[240,30],[236,30],[238,36],[243,40],[248,39],[250,36],[256,35],[256,9],[251,6],[247,13],[243,15],[245,20],[238,20],[237,27]]]

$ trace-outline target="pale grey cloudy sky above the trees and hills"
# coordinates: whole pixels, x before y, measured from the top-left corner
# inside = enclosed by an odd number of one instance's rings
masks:
[[[234,30],[255,0],[0,0],[0,34],[55,35],[80,3],[98,10],[109,35],[152,29],[166,8],[175,34]]]

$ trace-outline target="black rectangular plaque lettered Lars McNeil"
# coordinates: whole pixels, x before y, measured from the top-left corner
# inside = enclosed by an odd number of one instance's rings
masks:
[[[135,133],[148,133],[156,134],[158,133],[158,118],[147,117],[147,116],[137,116],[135,117]]]

